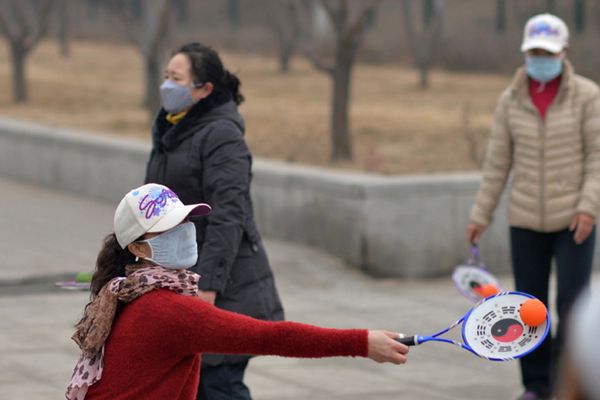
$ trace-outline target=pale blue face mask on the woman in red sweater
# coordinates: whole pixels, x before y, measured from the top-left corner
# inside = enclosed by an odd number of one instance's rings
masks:
[[[169,269],[190,268],[198,261],[196,227],[192,222],[177,225],[146,242],[152,250],[152,257],[146,258]]]

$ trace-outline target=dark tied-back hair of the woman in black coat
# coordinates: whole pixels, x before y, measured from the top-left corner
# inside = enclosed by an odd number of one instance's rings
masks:
[[[244,101],[244,96],[240,92],[239,78],[225,69],[219,53],[213,48],[194,42],[184,44],[172,55],[176,54],[185,54],[189,58],[195,83],[210,82],[217,90],[228,90],[237,105]]]

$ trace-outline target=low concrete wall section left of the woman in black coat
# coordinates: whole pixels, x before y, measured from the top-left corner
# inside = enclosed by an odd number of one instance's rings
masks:
[[[103,200],[139,186],[150,146],[0,119],[0,174]]]

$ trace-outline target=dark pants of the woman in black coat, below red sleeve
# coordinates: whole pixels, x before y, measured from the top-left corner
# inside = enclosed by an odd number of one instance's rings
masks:
[[[202,366],[198,400],[251,400],[244,384],[248,361],[237,364]]]

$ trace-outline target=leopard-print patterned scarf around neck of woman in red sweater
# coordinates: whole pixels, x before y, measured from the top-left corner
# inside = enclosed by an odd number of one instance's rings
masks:
[[[104,285],[86,306],[83,319],[75,327],[71,339],[79,345],[82,354],[67,386],[68,400],[83,400],[88,388],[102,378],[104,342],[110,334],[119,301],[129,303],[154,289],[198,296],[200,276],[191,271],[143,264],[128,265],[125,275]]]

